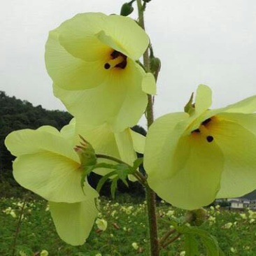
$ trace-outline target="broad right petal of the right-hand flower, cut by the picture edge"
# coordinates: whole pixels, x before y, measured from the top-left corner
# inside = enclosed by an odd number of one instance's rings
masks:
[[[255,131],[250,131],[256,117],[227,114],[217,118],[211,131],[225,157],[218,198],[241,197],[256,188],[256,137]]]

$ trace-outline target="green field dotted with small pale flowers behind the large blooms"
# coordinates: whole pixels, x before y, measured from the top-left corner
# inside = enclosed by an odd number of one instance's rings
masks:
[[[21,206],[20,199],[0,199],[0,255],[21,255],[21,251],[27,256],[40,255],[42,250],[48,250],[50,256],[94,256],[97,253],[101,253],[102,256],[148,255],[147,218],[143,202],[119,204],[116,201],[102,200],[100,218],[108,221],[108,228],[105,232],[98,232],[97,226],[94,225],[87,243],[77,247],[69,246],[59,239],[50,212],[47,211],[47,202],[38,199],[26,202],[14,246]],[[16,218],[10,214],[11,210]],[[173,215],[170,211],[174,211]],[[211,218],[201,227],[218,239],[226,255],[253,256],[256,255],[256,220],[253,221],[253,217],[256,219],[256,216],[252,213],[250,215],[248,211],[245,213],[246,218],[237,212],[209,208],[208,216]],[[183,211],[168,204],[159,204],[157,216],[160,236],[169,228],[168,221],[173,218],[172,216],[182,215]],[[228,222],[232,223],[231,227],[227,225]],[[138,243],[138,250],[131,246],[134,242]],[[181,236],[173,245],[163,250],[161,255],[180,255],[183,250]]]

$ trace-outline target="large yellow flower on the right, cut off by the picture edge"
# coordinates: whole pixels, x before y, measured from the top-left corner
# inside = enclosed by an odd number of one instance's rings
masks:
[[[199,85],[188,113],[164,115],[148,131],[148,183],[180,208],[192,210],[256,188],[256,97],[210,106],[210,88]]]

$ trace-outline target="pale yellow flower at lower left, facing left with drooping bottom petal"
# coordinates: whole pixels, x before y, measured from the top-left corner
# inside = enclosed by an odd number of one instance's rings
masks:
[[[80,187],[81,162],[68,133],[53,127],[13,131],[6,147],[17,158],[13,176],[20,185],[49,201],[57,233],[66,243],[81,245],[98,215],[98,193],[85,180]]]

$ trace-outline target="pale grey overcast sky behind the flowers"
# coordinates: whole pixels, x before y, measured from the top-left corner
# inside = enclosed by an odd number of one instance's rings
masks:
[[[64,110],[45,70],[48,31],[76,13],[119,13],[122,3],[2,0],[0,90],[35,106]],[[212,88],[213,107],[256,94],[255,0],[152,0],[145,24],[162,60],[156,116],[182,111],[200,83]]]

